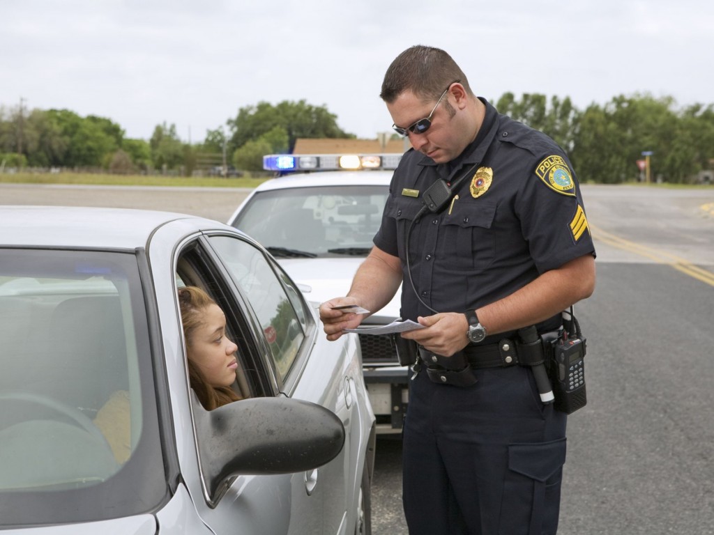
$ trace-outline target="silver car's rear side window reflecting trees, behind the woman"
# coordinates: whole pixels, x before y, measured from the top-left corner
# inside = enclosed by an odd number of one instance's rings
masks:
[[[229,236],[210,240],[258,318],[278,379],[284,382],[306,337],[304,301],[296,299],[298,290],[286,275],[273,270],[273,264],[251,243]]]

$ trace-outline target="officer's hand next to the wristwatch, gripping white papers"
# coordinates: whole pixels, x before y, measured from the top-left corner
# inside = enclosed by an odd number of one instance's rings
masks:
[[[449,357],[468,345],[468,322],[458,312],[442,312],[433,316],[418,317],[426,329],[404,332],[402,337],[415,340],[428,351]]]

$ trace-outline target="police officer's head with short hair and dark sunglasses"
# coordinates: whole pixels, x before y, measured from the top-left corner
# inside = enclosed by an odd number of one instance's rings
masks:
[[[481,102],[466,75],[441,49],[412,46],[392,61],[380,93],[394,129],[437,163],[456,158],[476,138]]]

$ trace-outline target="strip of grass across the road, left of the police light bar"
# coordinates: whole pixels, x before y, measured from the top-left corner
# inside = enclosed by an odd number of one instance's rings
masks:
[[[10,184],[85,184],[85,185],[151,185],[185,188],[255,188],[269,177],[250,176],[221,178],[217,176],[184,177],[161,175],[109,175],[92,173],[1,173],[0,183]]]

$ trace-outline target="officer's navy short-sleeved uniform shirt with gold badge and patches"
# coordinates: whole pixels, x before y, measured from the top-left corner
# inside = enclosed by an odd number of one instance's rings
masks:
[[[580,188],[567,156],[545,134],[504,116],[485,99],[478,136],[455,160],[436,164],[411,149],[394,172],[374,244],[401,259],[404,319],[432,315],[417,299],[406,267],[405,238],[436,180],[456,180],[441,213],[411,228],[409,263],[421,300],[438,312],[464,312],[499,300],[541,273],[595,255]],[[553,317],[540,325],[560,325]],[[490,337],[489,337],[490,338]]]

